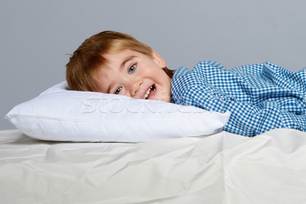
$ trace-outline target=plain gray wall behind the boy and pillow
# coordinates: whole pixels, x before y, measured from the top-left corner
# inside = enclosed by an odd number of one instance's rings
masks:
[[[65,80],[69,56],[104,30],[133,35],[171,69],[214,60],[306,66],[306,1],[0,1],[0,130],[14,106]]]

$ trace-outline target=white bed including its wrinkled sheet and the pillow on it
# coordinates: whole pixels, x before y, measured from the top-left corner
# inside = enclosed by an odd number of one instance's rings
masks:
[[[306,132],[230,114],[59,83],[5,116],[1,203],[306,203]]]

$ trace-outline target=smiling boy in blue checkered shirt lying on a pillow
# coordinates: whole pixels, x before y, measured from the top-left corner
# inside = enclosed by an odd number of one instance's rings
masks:
[[[276,128],[306,130],[306,69],[291,72],[266,62],[226,70],[206,61],[192,71],[172,71],[149,46],[105,31],[73,53],[66,79],[71,90],[228,110],[223,130],[248,137]]]

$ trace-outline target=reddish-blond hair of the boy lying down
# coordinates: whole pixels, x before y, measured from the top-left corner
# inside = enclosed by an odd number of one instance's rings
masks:
[[[152,58],[151,47],[134,37],[114,31],[104,31],[86,39],[74,51],[66,65],[66,80],[70,90],[97,91],[98,71],[108,60],[107,54],[132,49]],[[173,70],[163,69],[172,78]]]

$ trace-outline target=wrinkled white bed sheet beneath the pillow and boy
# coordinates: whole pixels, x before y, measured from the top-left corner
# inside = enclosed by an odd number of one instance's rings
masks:
[[[144,143],[0,131],[1,203],[306,203],[306,133]]]

